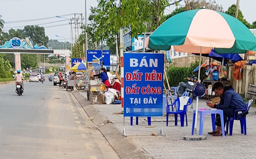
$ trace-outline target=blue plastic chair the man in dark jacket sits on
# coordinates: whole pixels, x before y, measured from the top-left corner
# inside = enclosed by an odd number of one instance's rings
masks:
[[[240,118],[238,119],[236,117],[236,114],[237,114],[237,111],[249,111],[251,105],[252,105],[252,102],[253,100],[249,100],[245,106],[246,106],[246,109],[237,109],[235,110],[235,114],[234,114],[234,117],[233,118],[228,118],[227,119],[227,126],[226,126],[226,132],[228,133],[228,125],[230,125],[230,128],[229,128],[229,135],[231,136],[232,135],[232,132],[233,132],[233,124],[234,124],[234,120],[240,120],[240,126],[241,126],[241,133],[244,135],[246,135],[246,116],[244,118]]]

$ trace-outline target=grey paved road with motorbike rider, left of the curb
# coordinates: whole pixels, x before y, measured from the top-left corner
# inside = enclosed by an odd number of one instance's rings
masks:
[[[70,92],[48,81],[14,89],[0,85],[0,158],[119,158]]]

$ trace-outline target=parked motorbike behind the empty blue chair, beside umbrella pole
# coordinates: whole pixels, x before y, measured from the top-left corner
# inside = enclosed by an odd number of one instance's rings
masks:
[[[187,77],[186,80],[188,80],[186,83],[185,82],[179,82],[179,85],[177,86],[177,97],[182,97],[182,96],[188,96],[193,100],[193,87],[197,83],[196,77]]]

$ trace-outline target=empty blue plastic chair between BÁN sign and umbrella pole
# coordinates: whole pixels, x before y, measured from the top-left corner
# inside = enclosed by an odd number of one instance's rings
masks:
[[[186,125],[188,126],[187,106],[189,106],[190,104],[192,104],[192,99],[190,97],[179,97],[174,101],[174,103],[167,105],[167,107],[166,107],[166,126],[168,126],[169,114],[174,114],[175,126],[177,125],[178,114],[180,115],[181,127],[184,127],[184,118],[186,116]],[[175,110],[173,107],[174,105],[175,105]],[[170,111],[170,106],[172,108],[172,111]]]

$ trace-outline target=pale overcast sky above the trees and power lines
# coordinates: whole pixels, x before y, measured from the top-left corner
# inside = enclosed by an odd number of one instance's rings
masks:
[[[64,41],[61,37],[63,36],[67,41],[70,41],[70,26],[68,21],[55,17],[56,15],[67,15],[65,18],[74,17],[74,13],[85,13],[84,0],[0,0],[0,14],[2,19],[6,22],[3,31],[8,31],[11,27],[14,29],[23,29],[26,25],[36,25],[45,27],[46,35],[49,39],[58,39]],[[216,0],[216,2],[223,6],[224,11],[235,4],[237,0]],[[90,7],[97,5],[96,0],[87,0],[87,14],[90,14]],[[180,3],[184,5],[184,2]],[[242,11],[244,18],[250,23],[256,21],[256,9],[252,9],[252,6],[256,6],[256,0],[240,0],[240,10]],[[168,10],[172,11],[175,6]],[[165,10],[165,14],[169,14],[170,11]],[[47,18],[40,21],[29,21],[29,22],[13,22],[23,21],[28,19],[40,19]],[[57,22],[60,21],[60,22]],[[8,23],[8,24],[7,24]],[[48,24],[46,24],[48,23]],[[67,24],[65,26],[62,26]],[[75,37],[75,31],[73,29]]]

